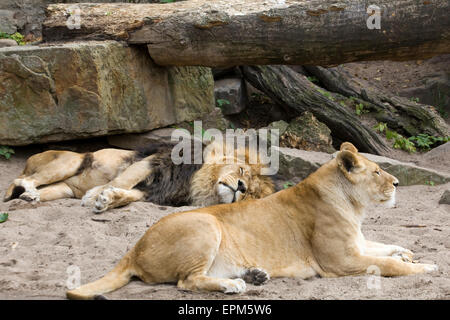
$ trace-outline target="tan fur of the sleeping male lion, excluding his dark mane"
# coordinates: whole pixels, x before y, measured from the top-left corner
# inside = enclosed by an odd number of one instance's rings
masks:
[[[245,150],[245,148],[243,149]],[[260,175],[260,164],[248,164],[249,153],[244,153],[244,161],[232,164],[212,160],[207,152],[208,163],[204,164],[192,177],[190,199],[193,205],[206,206],[218,203],[262,198],[274,192],[269,177]],[[20,177],[8,188],[4,201],[13,198],[16,187],[23,187],[20,198],[27,201],[49,201],[61,198],[83,198],[82,205],[93,207],[94,212],[124,206],[130,202],[144,200],[145,193],[135,186],[151,174],[149,156],[133,163],[136,153],[119,149],[103,149],[92,154],[70,151],[46,151],[27,160]],[[83,161],[90,157],[86,168]],[[183,182],[184,183],[184,182]],[[240,192],[239,184],[245,192]],[[224,196],[220,190],[225,188]],[[233,191],[231,191],[233,190]],[[234,193],[235,195],[229,196]]]

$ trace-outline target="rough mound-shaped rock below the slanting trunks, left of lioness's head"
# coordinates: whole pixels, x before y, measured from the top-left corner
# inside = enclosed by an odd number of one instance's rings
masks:
[[[280,146],[309,151],[333,153],[331,130],[318,121],[311,112],[291,120],[286,131],[281,135]]]

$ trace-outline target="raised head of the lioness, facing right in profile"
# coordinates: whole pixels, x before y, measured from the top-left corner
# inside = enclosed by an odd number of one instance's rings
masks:
[[[337,161],[344,176],[355,185],[355,196],[390,207],[395,204],[398,179],[360,155],[353,145],[343,144]]]

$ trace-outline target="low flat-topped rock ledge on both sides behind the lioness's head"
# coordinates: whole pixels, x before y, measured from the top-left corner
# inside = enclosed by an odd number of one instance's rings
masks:
[[[289,180],[294,177],[306,178],[325,162],[331,160],[337,153],[330,155],[324,152],[312,152],[298,149],[277,148],[280,154],[280,169],[278,175]],[[418,167],[412,163],[400,162],[386,157],[361,153],[369,160],[380,165],[383,170],[396,176],[401,186],[417,184],[444,184],[450,182],[450,175],[435,170]]]

